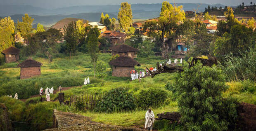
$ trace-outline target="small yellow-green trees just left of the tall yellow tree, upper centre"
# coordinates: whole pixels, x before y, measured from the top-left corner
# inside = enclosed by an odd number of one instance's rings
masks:
[[[115,18],[112,18],[112,19],[109,19],[109,15],[108,14],[101,14],[101,17],[100,17],[100,23],[102,23],[104,26],[106,26],[109,30],[115,30],[115,22],[116,22],[116,19]]]

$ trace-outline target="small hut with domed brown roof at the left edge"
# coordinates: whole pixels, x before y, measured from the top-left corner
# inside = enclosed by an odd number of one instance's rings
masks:
[[[2,51],[2,54],[5,56],[5,63],[19,61],[19,52],[20,50],[15,47],[9,47]]]

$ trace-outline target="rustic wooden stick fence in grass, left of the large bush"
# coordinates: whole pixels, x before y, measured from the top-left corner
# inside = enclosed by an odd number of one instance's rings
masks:
[[[79,101],[79,103],[82,104],[82,107],[85,108],[84,110],[94,110],[99,101],[102,100],[104,94],[104,92],[95,94],[88,94],[88,92],[83,92],[82,96],[70,96],[70,105],[75,105],[76,110],[78,110],[76,103]]]

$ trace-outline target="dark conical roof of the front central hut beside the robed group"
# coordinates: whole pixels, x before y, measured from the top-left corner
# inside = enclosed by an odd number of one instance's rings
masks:
[[[140,66],[140,63],[129,56],[120,56],[109,62],[111,66]]]

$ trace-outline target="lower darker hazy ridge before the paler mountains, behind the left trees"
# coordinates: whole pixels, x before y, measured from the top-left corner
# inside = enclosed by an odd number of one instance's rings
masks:
[[[117,16],[111,13],[108,13],[109,17],[112,18],[116,18]],[[39,15],[30,15],[34,21],[33,24],[43,24],[43,26],[52,26],[55,23],[57,23],[58,21],[65,19],[65,18],[77,18],[77,19],[86,19],[88,21],[100,21],[100,15],[101,13],[79,13],[79,14],[69,14],[69,15],[62,15],[62,14],[58,14],[58,15],[49,15],[49,16],[39,16]],[[12,15],[10,16],[14,22],[16,23],[17,20],[19,19],[19,21],[22,21],[22,16],[24,16],[23,14],[16,14],[16,15]]]

